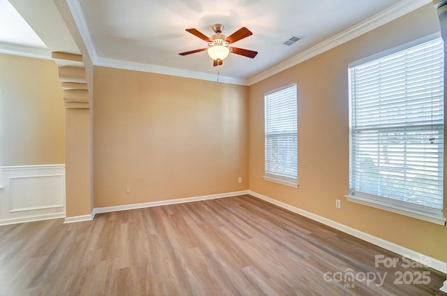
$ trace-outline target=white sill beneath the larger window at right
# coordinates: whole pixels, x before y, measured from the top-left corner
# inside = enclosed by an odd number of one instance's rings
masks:
[[[438,225],[446,225],[446,218],[444,218],[441,211],[439,214],[419,211],[418,209],[402,208],[398,205],[394,205],[393,202],[371,200],[369,198],[363,198],[356,195],[345,195],[349,202],[356,202],[360,205],[367,205],[376,209],[383,209],[384,211],[409,216],[411,218],[435,223]]]

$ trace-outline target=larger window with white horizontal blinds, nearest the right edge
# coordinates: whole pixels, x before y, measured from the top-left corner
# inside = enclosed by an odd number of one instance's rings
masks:
[[[349,65],[348,199],[444,224],[444,43],[404,47]]]

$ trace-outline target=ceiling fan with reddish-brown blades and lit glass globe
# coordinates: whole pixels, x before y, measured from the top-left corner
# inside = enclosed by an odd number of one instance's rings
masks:
[[[208,43],[208,47],[200,48],[199,50],[191,50],[190,52],[182,52],[179,54],[184,56],[186,54],[194,54],[196,52],[203,52],[206,50],[208,55],[214,61],[213,66],[220,66],[223,59],[228,57],[228,54],[230,54],[230,52],[233,52],[233,54],[240,54],[244,57],[249,57],[250,59],[253,59],[254,57],[256,57],[256,54],[258,54],[258,52],[254,52],[253,50],[244,50],[243,48],[230,46],[238,40],[253,35],[253,33],[251,33],[251,31],[246,27],[240,28],[228,37],[221,34],[223,31],[223,24],[213,24],[212,30],[216,34],[212,35],[211,37],[207,37],[196,29],[186,29],[186,31],[193,34],[194,36],[205,40]]]

